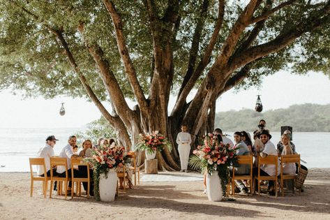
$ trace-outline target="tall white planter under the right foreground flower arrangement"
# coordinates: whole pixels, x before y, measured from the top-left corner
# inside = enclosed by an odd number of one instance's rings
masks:
[[[207,174],[207,198],[209,201],[220,201],[223,199],[223,188],[221,187],[218,171]]]

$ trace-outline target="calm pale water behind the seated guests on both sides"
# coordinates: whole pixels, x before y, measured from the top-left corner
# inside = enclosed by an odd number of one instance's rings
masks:
[[[55,135],[59,141],[54,147],[56,155],[67,144],[68,137],[82,129],[0,129],[0,172],[29,171],[29,157],[36,156],[38,149],[45,145],[48,135]],[[232,132],[227,132],[232,135]],[[271,132],[271,141],[276,145],[279,132]],[[233,139],[232,136],[229,136]],[[299,132],[293,134],[296,150],[308,168],[330,168],[330,133]]]

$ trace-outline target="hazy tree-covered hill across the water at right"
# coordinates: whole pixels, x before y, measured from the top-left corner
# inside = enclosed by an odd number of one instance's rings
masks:
[[[260,119],[266,120],[270,131],[280,131],[280,126],[292,126],[294,131],[330,132],[330,104],[291,105],[266,112],[250,109],[216,112],[215,127],[223,131],[254,131]]]

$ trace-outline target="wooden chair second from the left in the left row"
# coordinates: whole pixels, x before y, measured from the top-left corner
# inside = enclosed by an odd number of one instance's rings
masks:
[[[67,198],[68,194],[68,182],[71,181],[71,178],[68,177],[68,163],[66,161],[66,158],[63,157],[51,157],[50,158],[50,167],[54,166],[65,166],[66,167],[66,177],[58,177],[54,176],[53,170],[50,169],[50,187],[52,187],[52,184],[54,181],[57,181],[57,194],[61,195],[62,191],[62,182],[64,182],[64,191],[65,191],[65,196]],[[71,194],[73,191],[71,191]],[[50,188],[50,198],[52,198],[52,188]]]

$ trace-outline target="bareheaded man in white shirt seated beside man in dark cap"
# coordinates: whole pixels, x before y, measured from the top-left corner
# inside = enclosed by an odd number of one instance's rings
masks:
[[[66,158],[66,160],[67,160],[68,177],[71,177],[71,158],[78,157],[78,155],[74,154],[74,152],[73,152],[73,147],[75,147],[76,143],[77,143],[77,137],[75,135],[70,136],[69,140],[68,140],[68,145],[66,145],[66,147],[63,147],[63,149],[61,150],[61,153],[59,153],[59,157]],[[74,170],[73,172],[75,173],[75,176],[79,175],[78,170]],[[59,177],[66,177],[65,166],[57,167],[57,175],[59,175]],[[71,184],[72,184],[72,182],[69,182],[68,191],[71,190]]]

